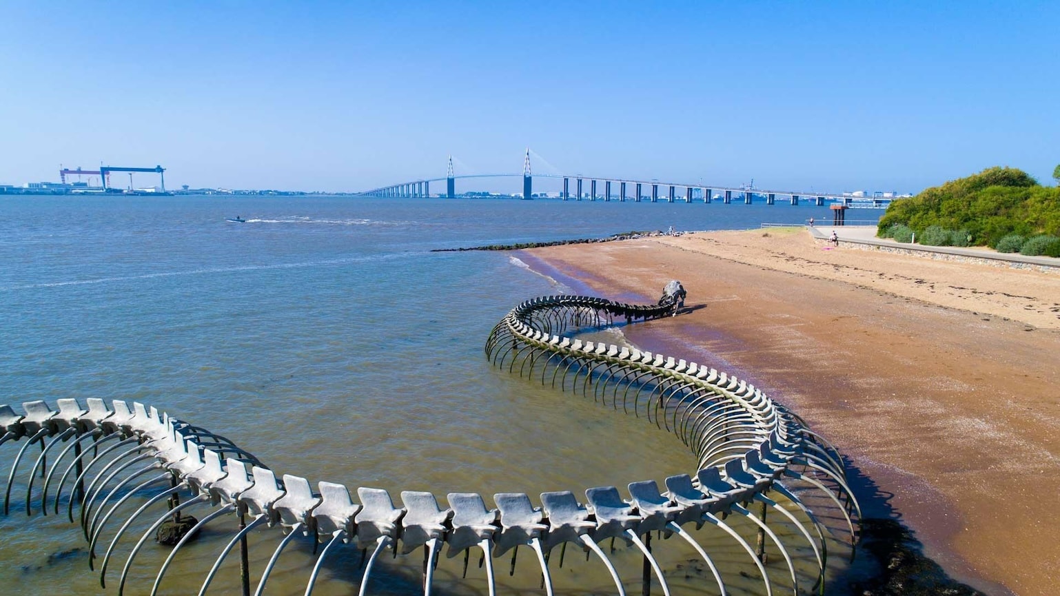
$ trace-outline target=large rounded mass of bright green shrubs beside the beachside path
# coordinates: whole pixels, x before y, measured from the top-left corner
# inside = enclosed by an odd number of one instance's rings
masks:
[[[996,248],[1002,239],[1012,234],[1057,235],[1060,188],[1042,187],[1014,168],[990,168],[926,189],[917,196],[896,199],[880,220],[878,234],[899,240],[895,230],[902,228],[897,225],[916,233],[920,244],[934,246]],[[1038,242],[1043,250],[1052,246],[1046,241]]]

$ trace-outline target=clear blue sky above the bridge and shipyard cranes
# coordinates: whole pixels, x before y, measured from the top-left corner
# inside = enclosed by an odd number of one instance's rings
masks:
[[[924,187],[1060,162],[1058,2],[0,4],[0,183]],[[144,179],[143,183],[152,183]]]

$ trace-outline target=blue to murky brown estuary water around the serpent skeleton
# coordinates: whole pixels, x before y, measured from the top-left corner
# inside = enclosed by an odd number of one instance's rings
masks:
[[[278,474],[385,488],[395,499],[429,490],[443,505],[450,491],[488,502],[520,491],[536,502],[549,490],[661,483],[695,462],[647,421],[485,360],[487,335],[509,309],[569,288],[507,252],[430,249],[830,218],[827,208],[790,205],[340,196],[16,197],[0,199],[0,403],[141,401],[227,436]],[[225,221],[235,215],[247,222]],[[4,475],[16,452],[0,449]],[[24,476],[12,513],[0,516],[2,592],[104,593],[75,524],[40,516],[37,503],[24,515]],[[218,525],[215,536],[230,534],[230,521]],[[260,534],[251,540],[259,573],[279,531]],[[123,539],[108,585],[134,542]],[[182,551],[162,593],[195,593],[219,544]],[[269,594],[304,590],[310,546],[288,553]],[[127,594],[149,590],[162,557],[152,543]],[[418,557],[405,571],[405,558],[387,563],[393,573],[378,591],[414,593]],[[355,590],[359,576],[348,568],[358,558],[353,548],[336,554],[316,593]],[[606,591],[600,565],[568,558],[558,585]],[[211,593],[236,590],[236,560]],[[524,564],[534,564],[529,551]],[[497,565],[507,571],[507,561]],[[481,576],[472,567],[470,577]],[[460,573],[443,557],[439,590],[484,591],[482,581],[458,582]],[[537,593],[533,573],[501,575]]]

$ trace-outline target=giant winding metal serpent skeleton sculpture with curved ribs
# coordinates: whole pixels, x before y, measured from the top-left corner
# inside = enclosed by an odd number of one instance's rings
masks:
[[[763,536],[770,537],[784,559],[784,575],[790,576],[778,585],[790,585],[798,594],[799,580],[789,551],[794,549],[792,545],[785,547],[763,521],[765,508],[770,507],[798,530],[794,536],[802,546],[809,543],[817,569],[813,589],[823,591],[827,541],[837,539],[830,538],[831,530],[785,483],[798,483],[807,492],[819,491],[825,495],[820,498],[827,497],[831,504],[830,509],[842,512],[850,532],[852,557],[854,520],[860,519],[860,510],[847,485],[842,458],[831,444],[808,430],[796,415],[735,376],[684,360],[675,362],[659,354],[565,335],[614,325],[616,320],[633,322],[674,315],[684,298],[685,291],[677,282],[668,284],[662,298],[652,305],[569,295],[535,298],[512,309],[485,343],[485,354],[497,367],[580,392],[615,409],[621,407],[674,433],[692,450],[699,467],[693,475],[666,478],[665,491],[655,480],[631,481],[626,485],[629,498],[623,498],[616,487],[599,487],[585,491],[584,504],[575,493],[561,491],[542,493],[540,506],[524,493],[499,493],[493,495],[496,509],[488,508],[477,493],[449,493],[448,507],[442,508],[430,492],[402,491],[403,506],[396,507],[383,489],[360,487],[353,498],[342,485],[321,481],[315,491],[306,478],[288,474],[277,478],[230,440],[154,407],[140,403],[130,407],[120,400],[107,404],[100,399],[87,400],[86,407],[77,400],[60,399],[54,408],[43,401],[23,403],[21,411],[0,406],[0,444],[21,443],[7,474],[3,510],[7,514],[16,475],[28,470],[29,475],[23,476],[28,478],[26,514],[33,513],[37,503],[41,513],[49,514],[50,510],[58,514],[65,498],[66,514],[73,522],[77,509],[89,544],[89,565],[99,569],[104,586],[108,569],[111,579],[117,575],[119,595],[126,591],[129,572],[147,540],[160,526],[196,505],[212,510],[180,538],[149,589],[137,585],[137,594],[154,595],[189,539],[226,514],[238,516],[240,529],[202,577],[200,596],[229,553],[237,543],[245,545],[248,532],[263,524],[280,527],[285,536],[262,569],[255,595],[264,592],[284,548],[295,537],[302,536],[315,538],[315,545],[324,544],[310,572],[306,596],[313,593],[325,557],[340,544],[350,543],[363,550],[360,596],[369,591],[372,568],[387,548],[394,556],[424,549],[423,592],[429,594],[443,545],[448,545],[449,557],[464,555],[465,574],[469,553],[481,550],[491,596],[496,590],[494,558],[511,550],[510,573],[514,573],[515,551],[518,546],[529,546],[540,566],[541,589],[551,596],[550,571],[554,569],[549,558],[560,546],[562,566],[567,543],[585,550],[586,557],[595,554],[614,580],[615,591],[624,596],[619,572],[600,546],[605,539],[615,538],[642,554],[642,592],[650,591],[654,577],[655,584],[669,596],[666,575],[650,547],[653,532],[679,537],[710,571],[707,593],[717,589],[717,593],[727,594],[718,565],[686,529],[689,524],[696,528],[716,526],[739,544],[739,551],[745,551],[748,563],[757,569],[760,592],[772,595],[774,581],[762,563],[761,549],[756,553],[724,521],[727,515],[750,520],[760,541],[764,541]],[[40,452],[30,466],[29,448],[34,444],[40,445]],[[52,454],[49,469],[48,457]],[[35,483],[38,475],[42,480]],[[781,495],[793,507],[781,506],[768,496],[771,493]],[[762,508],[762,519],[749,509],[753,504]],[[158,510],[148,513],[152,507]],[[113,529],[119,520],[124,521]],[[141,526],[148,520],[151,524],[139,534],[119,572],[116,547],[137,520]],[[114,524],[108,525],[112,521]],[[127,537],[126,542],[132,538]],[[369,551],[365,564],[364,555]],[[245,556],[242,566],[244,593],[248,593],[251,581]]]

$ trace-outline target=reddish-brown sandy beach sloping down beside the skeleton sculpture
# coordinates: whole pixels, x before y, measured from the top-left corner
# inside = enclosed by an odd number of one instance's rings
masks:
[[[802,229],[528,258],[611,298],[654,301],[681,280],[692,311],[631,328],[634,343],[792,407],[868,475],[866,516],[906,524],[956,579],[1056,593],[1060,275],[832,248]]]

